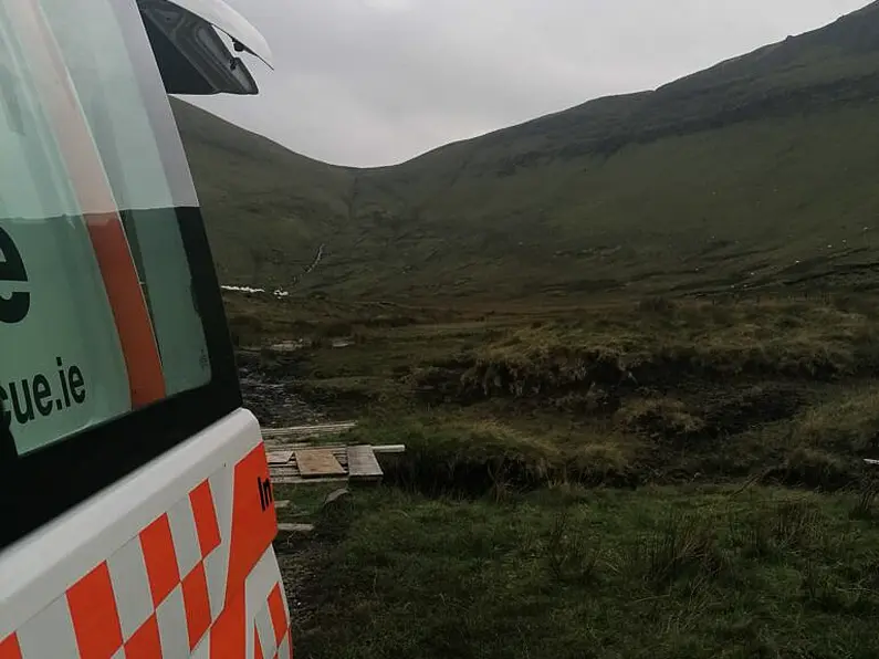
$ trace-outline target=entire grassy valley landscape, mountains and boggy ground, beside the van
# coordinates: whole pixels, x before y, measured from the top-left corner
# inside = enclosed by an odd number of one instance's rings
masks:
[[[279,487],[297,656],[879,655],[878,81],[875,3],[395,167],[177,103],[248,407],[407,447]]]

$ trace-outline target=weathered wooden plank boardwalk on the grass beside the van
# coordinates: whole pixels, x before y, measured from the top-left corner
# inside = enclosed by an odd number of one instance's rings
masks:
[[[384,472],[376,454],[401,453],[404,446],[332,443],[325,440],[354,428],[354,421],[265,428],[269,473],[275,484],[378,483]]]

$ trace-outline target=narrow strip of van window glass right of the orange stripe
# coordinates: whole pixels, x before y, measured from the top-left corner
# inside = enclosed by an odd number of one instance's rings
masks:
[[[123,34],[115,1],[41,3],[123,215],[158,342],[166,391],[178,394],[210,379],[205,332],[175,212],[175,207],[197,201],[148,38],[143,29],[137,43]],[[148,82],[154,85],[145,95],[142,85]],[[165,113],[159,112],[163,107]],[[166,136],[170,139],[160,139]]]

